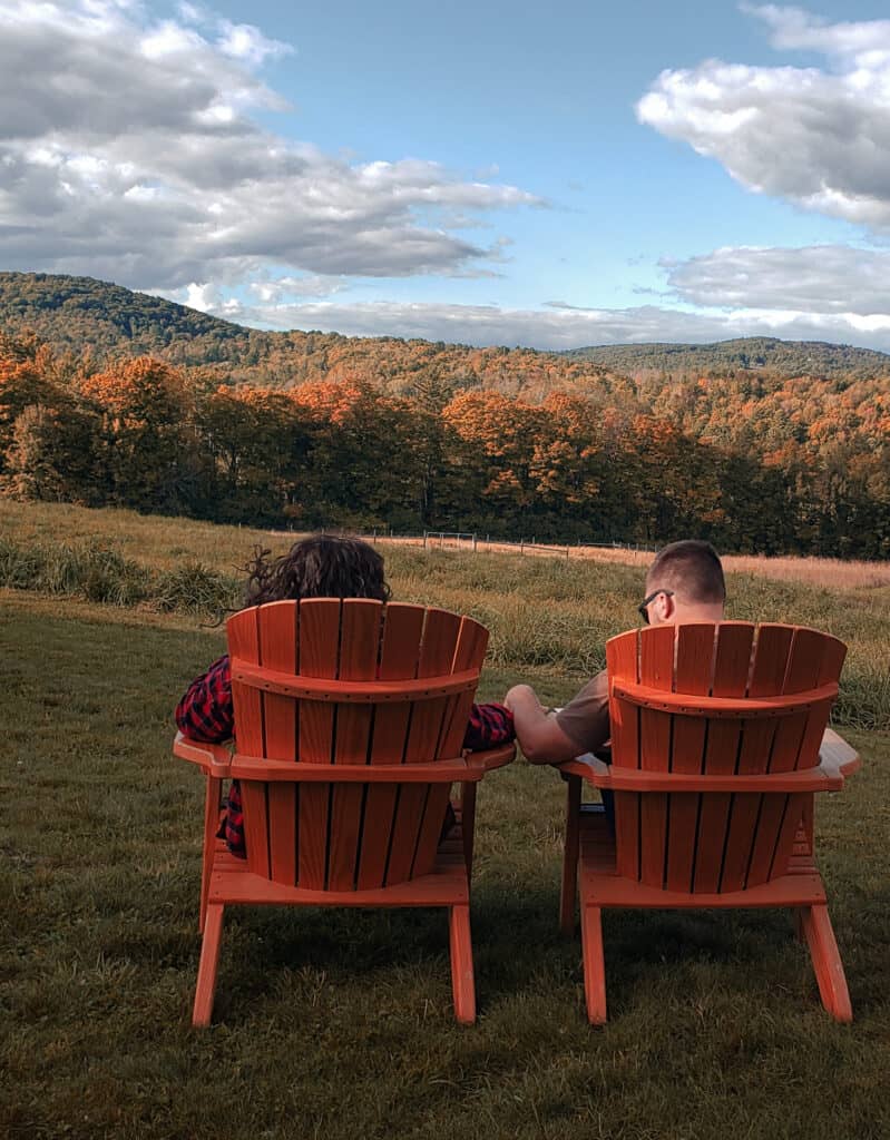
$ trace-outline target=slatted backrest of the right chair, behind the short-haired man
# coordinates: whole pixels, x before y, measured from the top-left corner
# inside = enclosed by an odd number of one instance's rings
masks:
[[[613,637],[613,765],[697,775],[815,767],[846,652],[814,629],[742,621]],[[788,869],[807,798],[616,792],[617,873],[694,894],[768,882]]]

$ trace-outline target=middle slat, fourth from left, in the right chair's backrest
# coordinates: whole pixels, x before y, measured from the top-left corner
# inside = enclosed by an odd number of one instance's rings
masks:
[[[711,687],[714,697],[745,695],[753,640],[754,627],[749,622],[720,622],[717,628],[714,679]],[[736,771],[741,734],[741,720],[707,722],[705,773],[727,774]],[[713,894],[720,885],[730,804],[729,793],[709,792],[702,796],[693,880],[696,891]]]

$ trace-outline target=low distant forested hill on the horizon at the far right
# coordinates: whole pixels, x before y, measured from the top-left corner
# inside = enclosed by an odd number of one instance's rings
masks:
[[[775,336],[742,336],[714,344],[600,344],[572,349],[563,356],[571,360],[589,360],[614,372],[753,369],[784,376],[846,374],[860,378],[890,373],[887,352],[825,341],[782,341]]]

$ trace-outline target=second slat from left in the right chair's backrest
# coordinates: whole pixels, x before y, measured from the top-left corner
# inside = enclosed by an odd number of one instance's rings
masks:
[[[640,633],[640,684],[671,692],[673,689],[674,627],[653,626]],[[671,769],[671,716],[640,709],[640,768]],[[653,792],[640,804],[640,880],[664,886],[668,850],[668,796]]]

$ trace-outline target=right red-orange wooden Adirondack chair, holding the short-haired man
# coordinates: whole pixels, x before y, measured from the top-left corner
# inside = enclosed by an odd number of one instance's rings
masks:
[[[588,1017],[606,1020],[604,907],[790,906],[823,1004],[852,1020],[825,886],[814,793],[859,767],[828,711],[847,649],[793,626],[656,626],[606,646],[612,763],[568,782],[560,925],[581,929]],[[820,751],[822,749],[822,751]],[[614,793],[614,836],[582,781]]]

